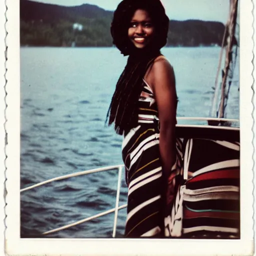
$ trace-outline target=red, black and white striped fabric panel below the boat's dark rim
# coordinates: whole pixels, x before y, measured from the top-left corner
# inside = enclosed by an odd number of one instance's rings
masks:
[[[184,140],[183,237],[239,238],[239,149],[237,141]]]

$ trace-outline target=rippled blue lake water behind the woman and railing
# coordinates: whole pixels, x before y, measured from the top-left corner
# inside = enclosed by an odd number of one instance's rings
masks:
[[[177,116],[209,116],[219,47],[163,48],[173,65]],[[104,121],[126,58],[115,48],[27,47],[21,61],[20,187],[63,174],[122,164],[122,137]],[[239,118],[238,64],[227,115]],[[21,237],[113,208],[117,171],[52,182],[21,193]],[[119,205],[126,203],[124,175]],[[46,237],[111,237],[113,214]],[[118,212],[117,237],[126,209]]]

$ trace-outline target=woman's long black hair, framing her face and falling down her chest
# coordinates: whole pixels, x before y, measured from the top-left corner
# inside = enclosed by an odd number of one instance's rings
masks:
[[[146,10],[154,26],[152,41],[143,49],[128,38],[130,20],[137,9]],[[137,123],[137,103],[146,70],[166,44],[169,19],[160,0],[122,0],[114,11],[111,23],[113,44],[126,56],[127,64],[117,83],[107,112],[108,124],[114,122],[116,133],[123,134]],[[107,121],[107,119],[106,119]]]

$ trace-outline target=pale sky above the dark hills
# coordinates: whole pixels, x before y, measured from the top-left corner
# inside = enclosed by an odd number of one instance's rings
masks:
[[[114,10],[120,0],[33,0],[58,5],[73,6],[83,3]],[[170,19],[215,20],[226,23],[229,0],[161,0]]]

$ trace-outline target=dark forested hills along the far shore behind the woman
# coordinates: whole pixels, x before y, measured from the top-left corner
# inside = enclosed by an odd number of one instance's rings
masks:
[[[67,7],[20,0],[20,45],[112,46],[112,15],[91,4]],[[80,30],[74,24],[80,24]],[[223,33],[221,22],[170,20],[166,46],[221,45]]]

